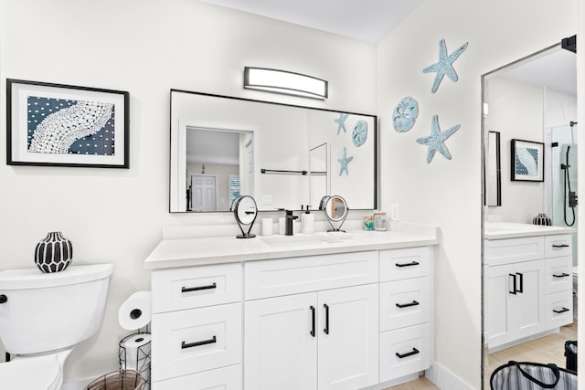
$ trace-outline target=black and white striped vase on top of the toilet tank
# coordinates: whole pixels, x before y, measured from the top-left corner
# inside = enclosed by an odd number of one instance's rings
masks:
[[[71,241],[61,232],[50,232],[35,248],[35,264],[45,273],[62,271],[69,267],[73,258]]]

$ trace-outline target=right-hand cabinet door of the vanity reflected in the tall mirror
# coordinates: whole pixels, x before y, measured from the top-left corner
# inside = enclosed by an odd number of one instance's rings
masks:
[[[516,339],[545,330],[545,262],[516,263],[518,292],[514,297]]]

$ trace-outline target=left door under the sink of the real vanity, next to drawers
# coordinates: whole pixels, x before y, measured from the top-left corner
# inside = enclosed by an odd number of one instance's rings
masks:
[[[245,303],[245,389],[316,390],[316,298],[313,292]]]

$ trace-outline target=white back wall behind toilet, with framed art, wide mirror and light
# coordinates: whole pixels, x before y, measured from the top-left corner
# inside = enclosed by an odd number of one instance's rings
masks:
[[[328,79],[330,98],[243,90],[244,66]],[[74,263],[114,263],[101,332],[69,356],[66,379],[117,367],[118,342],[128,334],[117,311],[135,290],[150,289],[143,261],[162,227],[233,224],[230,213],[168,213],[171,88],[376,111],[374,44],[196,0],[2,1],[2,97],[6,78],[130,92],[130,169],[0,164],[0,270],[34,267],[37,241],[55,229],[72,240]],[[5,100],[0,102],[5,140]]]

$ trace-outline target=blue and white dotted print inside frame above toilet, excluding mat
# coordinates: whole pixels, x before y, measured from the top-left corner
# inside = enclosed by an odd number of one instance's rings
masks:
[[[27,96],[27,152],[115,154],[112,103]]]

